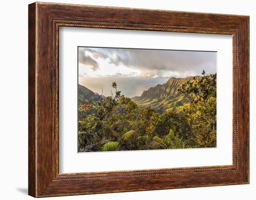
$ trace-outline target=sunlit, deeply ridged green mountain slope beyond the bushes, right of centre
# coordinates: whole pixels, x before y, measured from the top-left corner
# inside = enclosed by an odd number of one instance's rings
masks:
[[[178,89],[182,84],[186,84],[192,78],[171,77],[165,84],[158,84],[155,87],[151,87],[143,91],[140,97],[132,97],[132,100],[140,107],[150,106],[159,113],[181,109],[181,106],[189,103],[189,99],[182,96],[178,92]]]

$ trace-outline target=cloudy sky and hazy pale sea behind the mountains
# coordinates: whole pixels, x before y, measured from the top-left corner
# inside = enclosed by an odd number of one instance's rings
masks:
[[[78,48],[79,84],[106,96],[114,81],[125,96],[134,97],[170,77],[200,75],[202,70],[216,73],[216,52]]]

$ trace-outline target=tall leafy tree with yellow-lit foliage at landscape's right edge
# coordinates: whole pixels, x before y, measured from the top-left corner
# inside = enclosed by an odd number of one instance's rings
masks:
[[[191,127],[189,139],[198,147],[216,147],[216,74],[202,71],[179,92],[191,101],[183,109]]]

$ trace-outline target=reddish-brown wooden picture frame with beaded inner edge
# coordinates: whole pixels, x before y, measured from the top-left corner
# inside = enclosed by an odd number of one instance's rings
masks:
[[[249,183],[249,16],[33,3],[28,6],[28,194],[34,197]],[[233,164],[59,174],[59,27],[233,36]]]

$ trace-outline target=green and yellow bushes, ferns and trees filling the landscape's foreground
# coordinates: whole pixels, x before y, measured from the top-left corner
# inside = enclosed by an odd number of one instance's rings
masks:
[[[196,76],[178,92],[189,103],[156,112],[115,94],[79,104],[79,152],[216,147],[216,74]]]

